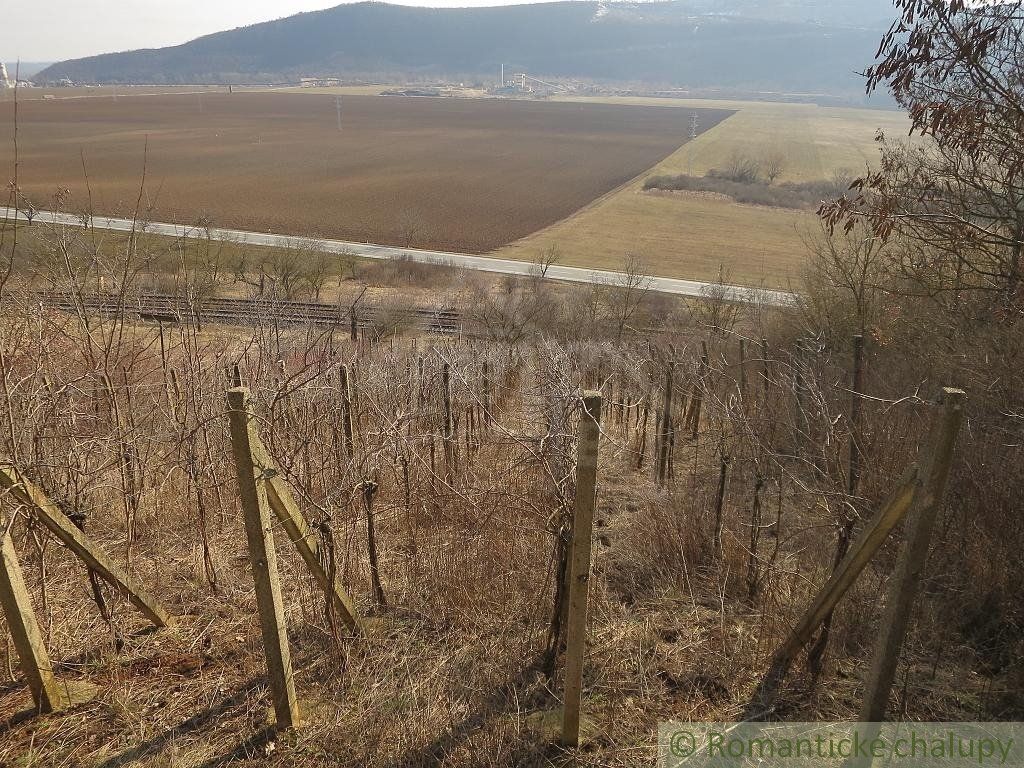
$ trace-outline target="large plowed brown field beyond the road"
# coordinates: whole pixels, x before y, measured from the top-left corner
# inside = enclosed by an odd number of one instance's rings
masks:
[[[0,103],[0,169],[13,167]],[[558,221],[684,143],[694,110],[204,93],[19,104],[19,184],[84,210],[483,253]],[[697,111],[702,131],[731,113]],[[147,148],[146,148],[147,147]]]

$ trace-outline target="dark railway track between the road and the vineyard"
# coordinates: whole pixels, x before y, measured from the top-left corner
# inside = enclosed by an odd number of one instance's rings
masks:
[[[90,312],[115,314],[119,311],[148,323],[179,324],[189,321],[203,324],[252,326],[275,322],[289,326],[338,326],[348,329],[352,317],[348,307],[313,301],[280,301],[269,299],[209,298],[189,305],[182,297],[172,294],[140,293],[125,297],[110,294],[78,295],[67,291],[42,291],[36,298],[44,306],[63,312],[75,312],[79,306]],[[355,324],[359,329],[375,329],[385,325],[415,325],[427,333],[453,335],[462,329],[462,315],[446,307],[381,308],[366,306],[356,309]]]

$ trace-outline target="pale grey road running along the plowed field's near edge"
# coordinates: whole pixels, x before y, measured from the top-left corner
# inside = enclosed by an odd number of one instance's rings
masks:
[[[0,206],[0,218],[17,217],[25,219],[25,214],[15,212],[12,208]],[[84,226],[81,216],[70,213],[54,213],[52,211],[37,211],[35,218],[37,222],[49,224],[65,224],[69,226]],[[108,216],[93,216],[89,222],[97,229],[113,229],[116,231],[129,231],[132,228],[130,219],[110,218]],[[205,239],[210,237],[216,241],[227,243],[242,243],[252,246],[272,246],[276,248],[295,248],[314,246],[323,249],[327,253],[354,254],[368,259],[394,259],[408,257],[414,261],[425,264],[437,264],[439,266],[458,266],[466,269],[478,269],[484,272],[498,272],[499,274],[519,274],[528,275],[536,267],[526,261],[512,261],[511,259],[493,259],[486,256],[468,256],[461,253],[444,253],[443,251],[421,251],[415,248],[394,248],[391,246],[376,246],[368,243],[346,243],[340,240],[319,240],[313,238],[303,238],[295,234],[271,234],[269,232],[249,232],[241,229],[217,229],[209,230],[196,226],[185,226],[183,224],[166,224],[155,221],[147,221],[141,227],[144,231],[154,234],[166,234],[172,238]],[[621,285],[625,279],[622,272],[608,271],[604,269],[586,269],[578,266],[561,266],[553,264],[548,268],[547,276],[553,280],[568,281],[570,283],[591,283],[599,285]],[[792,306],[796,301],[796,295],[783,291],[765,291],[740,286],[719,286],[714,283],[700,283],[692,280],[676,280],[674,278],[651,278],[651,289],[662,293],[671,293],[678,296],[723,296],[730,301],[760,302],[773,306]],[[724,293],[723,293],[724,292]]]

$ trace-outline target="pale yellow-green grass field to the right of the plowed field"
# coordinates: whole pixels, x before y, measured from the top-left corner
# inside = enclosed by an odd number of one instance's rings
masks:
[[[588,101],[579,98],[573,101]],[[607,98],[610,103],[689,111],[736,110],[718,126],[684,144],[643,174],[702,174],[722,168],[734,152],[784,158],[779,180],[828,178],[837,169],[863,170],[874,157],[879,128],[899,134],[899,113],[745,101]],[[499,250],[495,255],[531,260],[553,244],[575,266],[618,267],[625,254],[640,255],[667,278],[715,280],[720,271],[742,285],[787,288],[806,264],[804,238],[816,228],[811,214],[737,205],[699,194],[644,194],[642,178],[605,196],[563,221]]]

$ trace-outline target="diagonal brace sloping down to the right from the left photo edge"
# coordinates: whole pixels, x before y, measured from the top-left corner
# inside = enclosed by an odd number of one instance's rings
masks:
[[[20,471],[6,459],[0,459],[0,488],[9,490],[14,499],[29,507],[39,522],[43,523],[86,565],[114,586],[155,626],[167,627],[171,623],[170,615],[152,595],[146,593],[134,579],[115,565],[114,561],[103,554],[85,534],[72,524],[59,507],[51,502],[39,487],[23,476]]]

